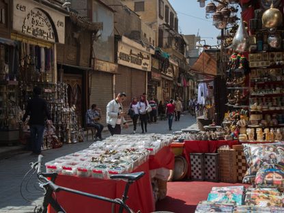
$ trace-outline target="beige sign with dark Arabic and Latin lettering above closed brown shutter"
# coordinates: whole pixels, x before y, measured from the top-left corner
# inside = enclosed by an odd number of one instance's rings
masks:
[[[151,54],[131,44],[118,42],[117,63],[137,70],[151,71]]]

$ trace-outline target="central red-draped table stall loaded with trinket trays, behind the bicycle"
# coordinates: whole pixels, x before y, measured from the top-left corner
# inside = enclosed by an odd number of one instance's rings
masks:
[[[60,186],[113,199],[122,196],[125,182],[111,180],[110,175],[145,171],[130,187],[126,204],[134,212],[153,212],[155,201],[167,192],[169,169],[174,165],[169,148],[172,140],[172,134],[117,134],[93,143],[86,150],[46,162],[46,171],[59,173],[55,183]],[[89,212],[90,209],[111,212],[112,208],[110,203],[79,195],[67,196],[61,192],[56,197],[67,212]]]

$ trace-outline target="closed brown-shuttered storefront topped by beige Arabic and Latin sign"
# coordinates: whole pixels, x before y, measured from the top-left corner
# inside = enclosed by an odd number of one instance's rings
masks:
[[[115,93],[126,92],[128,100],[124,103],[124,107],[127,109],[132,97],[139,98],[147,92],[147,72],[151,71],[151,51],[123,36],[117,44],[117,63],[119,68],[115,76]]]

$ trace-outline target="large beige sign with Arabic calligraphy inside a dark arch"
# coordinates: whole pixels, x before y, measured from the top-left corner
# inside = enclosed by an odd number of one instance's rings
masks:
[[[14,0],[13,29],[48,42],[64,43],[65,16],[33,1]],[[52,18],[51,18],[52,17]]]

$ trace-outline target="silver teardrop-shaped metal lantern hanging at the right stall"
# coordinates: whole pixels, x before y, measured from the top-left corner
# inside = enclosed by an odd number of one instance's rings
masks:
[[[234,51],[243,53],[248,48],[248,40],[249,40],[248,33],[244,28],[244,23],[242,22],[241,18],[240,25],[238,27],[236,35],[233,37],[233,43],[231,47],[233,48]]]

